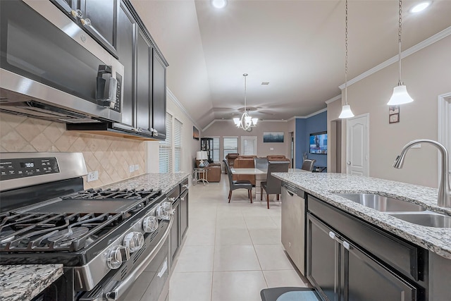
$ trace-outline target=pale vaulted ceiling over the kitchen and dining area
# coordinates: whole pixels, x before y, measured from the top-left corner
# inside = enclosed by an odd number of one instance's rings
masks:
[[[323,109],[345,82],[344,0],[131,2],[169,63],[168,88],[202,128],[242,114],[243,73],[262,120]],[[403,1],[403,50],[451,26],[450,0],[410,13],[419,2]],[[348,14],[350,80],[397,54],[398,1],[350,0]]]

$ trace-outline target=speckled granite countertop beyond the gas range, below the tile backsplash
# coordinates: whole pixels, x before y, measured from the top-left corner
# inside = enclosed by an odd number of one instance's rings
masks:
[[[175,186],[182,183],[190,173],[146,173],[141,176],[122,180],[113,184],[105,185],[103,188],[111,189],[161,189],[162,193],[171,191]]]

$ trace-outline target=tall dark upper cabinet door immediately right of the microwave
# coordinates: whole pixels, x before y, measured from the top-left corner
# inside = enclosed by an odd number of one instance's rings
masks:
[[[135,55],[133,41],[136,36],[137,23],[128,8],[121,3],[118,16],[118,56],[124,66],[122,123],[135,126],[135,95],[133,79],[135,71]]]

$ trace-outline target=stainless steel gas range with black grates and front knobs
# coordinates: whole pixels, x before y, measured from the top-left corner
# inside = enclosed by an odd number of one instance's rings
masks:
[[[0,154],[0,264],[63,264],[42,300],[123,300],[153,271],[157,300],[172,203],[160,190],[83,190],[86,174],[81,153]]]

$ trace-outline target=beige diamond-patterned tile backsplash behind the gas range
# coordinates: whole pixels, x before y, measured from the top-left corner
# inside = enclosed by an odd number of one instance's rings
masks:
[[[142,141],[77,133],[65,123],[0,113],[1,152],[82,152],[89,171],[99,171],[99,180],[85,189],[97,188],[145,173],[146,146]],[[139,165],[130,173],[130,165]]]

